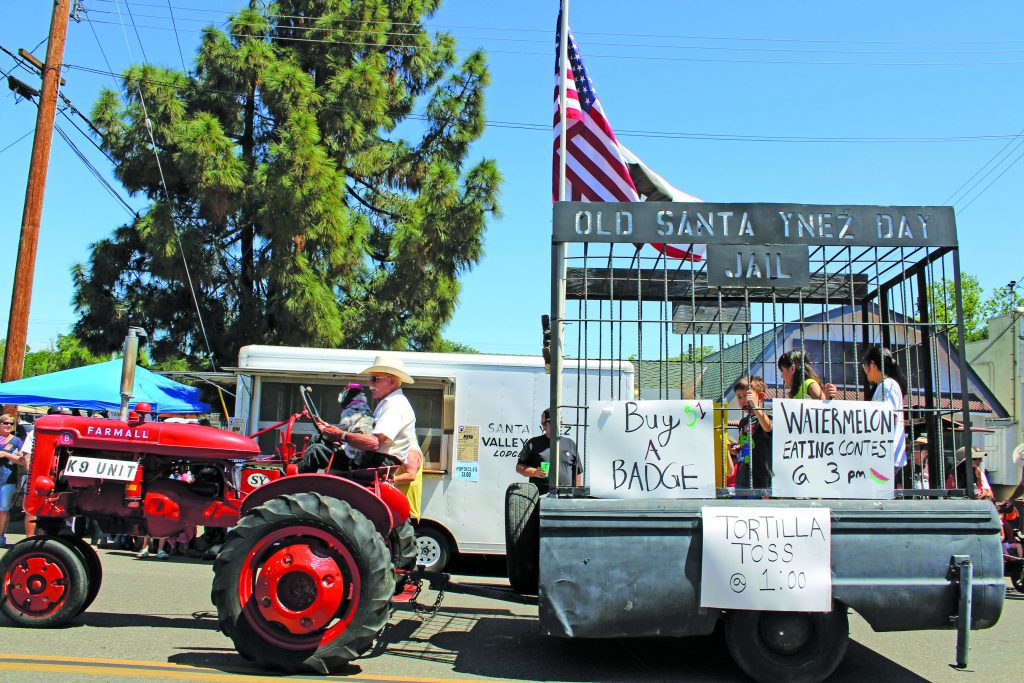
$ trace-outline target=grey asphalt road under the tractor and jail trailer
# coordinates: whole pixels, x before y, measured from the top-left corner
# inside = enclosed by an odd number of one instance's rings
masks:
[[[12,537],[17,540],[19,537]],[[0,551],[0,553],[5,551]],[[279,680],[254,669],[217,631],[210,603],[212,563],[137,560],[101,550],[103,583],[71,625],[19,629],[0,616],[0,681]],[[507,591],[503,560],[470,558],[456,581]],[[421,602],[433,601],[425,591]],[[511,594],[510,594],[511,595]],[[447,594],[422,621],[395,610],[383,642],[332,678],[349,681],[744,681],[718,636],[581,641],[542,637],[537,608],[490,597]],[[971,667],[955,671],[953,632],[878,634],[851,615],[851,642],[834,681],[1014,680],[1024,595],[1008,590],[995,628],[972,634]],[[316,676],[284,677],[324,680]]]

